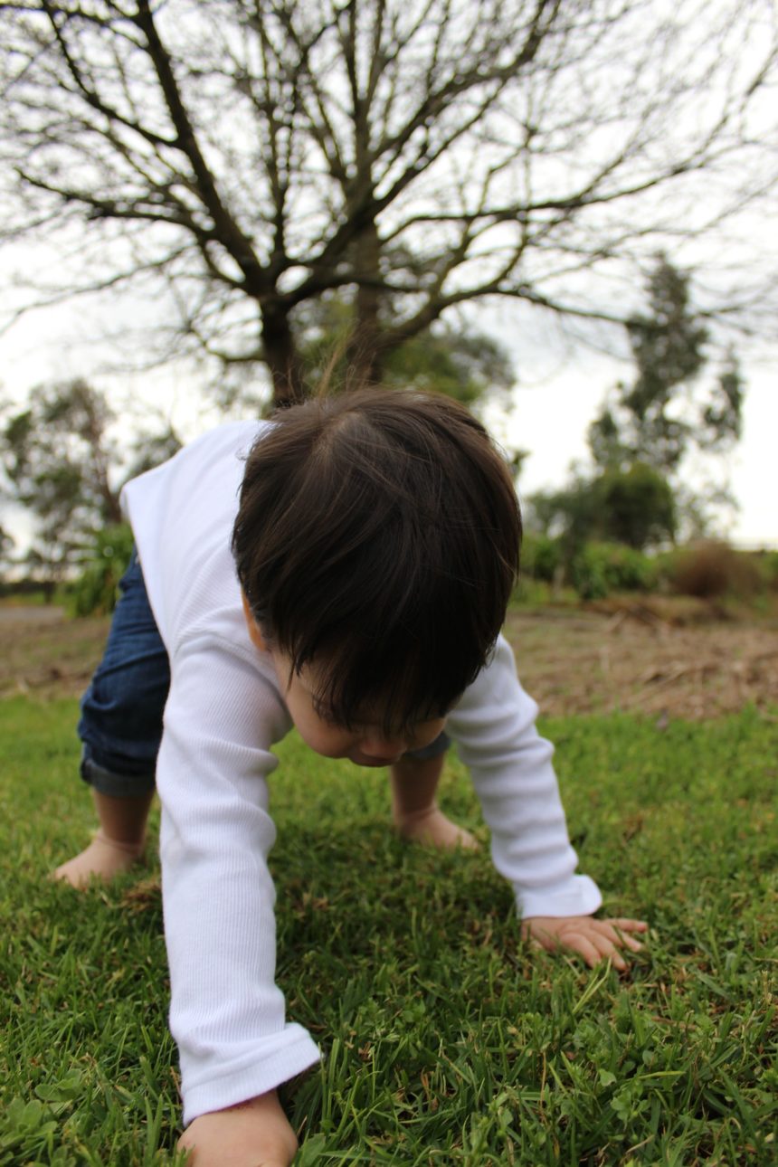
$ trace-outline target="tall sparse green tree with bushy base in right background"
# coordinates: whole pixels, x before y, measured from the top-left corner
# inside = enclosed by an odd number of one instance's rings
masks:
[[[708,328],[692,306],[691,277],[659,256],[647,286],[649,312],[628,334],[636,377],[616,386],[589,426],[595,471],[531,502],[542,529],[563,533],[568,561],[587,539],[644,548],[672,541],[681,517],[705,527],[705,501],[680,477],[691,450],[722,453],[741,435],[744,383],[734,351],[713,384],[701,382]],[[728,495],[721,483],[708,502]]]

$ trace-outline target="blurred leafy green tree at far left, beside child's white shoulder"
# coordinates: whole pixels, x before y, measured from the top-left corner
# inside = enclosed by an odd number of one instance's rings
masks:
[[[24,562],[52,588],[97,530],[121,523],[126,455],[110,434],[113,411],[85,380],[40,385],[23,410],[5,412],[0,462],[8,494],[34,519]],[[171,431],[138,438],[131,473],[163,461],[178,445]]]

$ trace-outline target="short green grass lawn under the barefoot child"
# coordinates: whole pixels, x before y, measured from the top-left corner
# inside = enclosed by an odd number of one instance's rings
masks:
[[[75,712],[0,703],[0,1163],[173,1163],[159,892],[45,880],[91,825]],[[285,1090],[301,1167],[777,1161],[778,724],[544,728],[582,868],[651,922],[626,977],[528,951],[485,850],[401,845],[381,774],[282,745],[279,978],[327,1051]],[[456,763],[442,798],[481,831]]]

